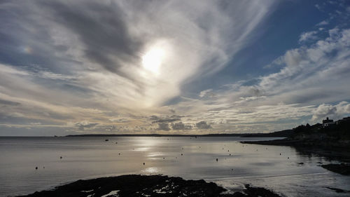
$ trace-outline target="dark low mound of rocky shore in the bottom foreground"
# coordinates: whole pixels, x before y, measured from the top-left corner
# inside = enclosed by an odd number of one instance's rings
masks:
[[[213,182],[204,180],[185,180],[181,177],[162,175],[122,175],[97,179],[78,180],[57,186],[50,191],[36,191],[26,196],[84,196],[84,197],[134,197],[134,196],[218,196],[218,197],[279,197],[268,189],[245,185],[243,191],[225,193],[227,191]]]

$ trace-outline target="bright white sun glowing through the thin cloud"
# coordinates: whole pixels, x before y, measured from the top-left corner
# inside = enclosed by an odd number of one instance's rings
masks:
[[[142,66],[153,74],[159,74],[164,54],[165,51],[162,48],[151,48],[142,56]]]

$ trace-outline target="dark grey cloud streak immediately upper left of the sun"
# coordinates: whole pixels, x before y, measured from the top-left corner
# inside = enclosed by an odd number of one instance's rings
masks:
[[[84,4],[44,2],[55,14],[55,20],[74,32],[85,45],[85,56],[110,72],[118,72],[120,62],[138,60],[141,41],[127,29],[123,10],[112,1]],[[136,58],[135,58],[136,57]]]

